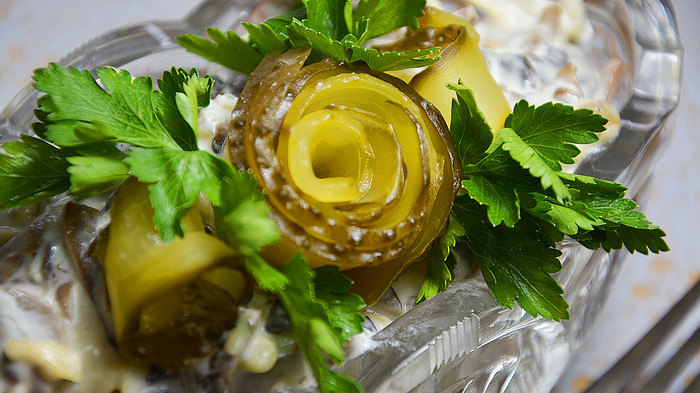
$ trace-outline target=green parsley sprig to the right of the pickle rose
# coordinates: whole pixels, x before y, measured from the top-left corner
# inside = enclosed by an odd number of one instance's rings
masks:
[[[588,109],[518,102],[505,128],[495,133],[461,82],[452,105],[452,133],[465,178],[466,195],[456,199],[452,219],[461,224],[439,241],[440,258],[428,258],[419,300],[446,288],[452,279],[448,247],[465,242],[476,257],[496,301],[512,308],[517,300],[532,314],[568,319],[563,290],[551,274],[561,270],[556,242],[564,235],[607,251],[667,251],[664,232],[626,199],[618,183],[562,172],[593,143],[607,120]],[[441,272],[436,274],[434,272]]]

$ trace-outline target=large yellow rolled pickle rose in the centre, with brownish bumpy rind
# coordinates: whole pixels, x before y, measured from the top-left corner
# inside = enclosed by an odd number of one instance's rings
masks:
[[[390,281],[444,232],[461,177],[449,130],[403,81],[362,64],[304,66],[309,52],[270,54],[251,74],[229,158],[272,207],[281,240],[268,261],[301,250],[312,267],[390,264]]]

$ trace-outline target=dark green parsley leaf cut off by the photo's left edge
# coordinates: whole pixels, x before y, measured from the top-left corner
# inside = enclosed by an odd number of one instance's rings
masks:
[[[28,135],[2,147],[7,154],[0,154],[1,209],[29,205],[68,191],[65,152]]]

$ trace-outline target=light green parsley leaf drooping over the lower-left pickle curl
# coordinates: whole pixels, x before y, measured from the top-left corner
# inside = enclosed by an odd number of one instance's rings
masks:
[[[156,211],[154,222],[164,240],[182,236],[180,217],[204,193],[218,209],[227,241],[243,255],[252,255],[278,240],[269,207],[248,173],[236,171],[222,158],[204,151],[134,148],[125,160],[131,174],[146,183]]]

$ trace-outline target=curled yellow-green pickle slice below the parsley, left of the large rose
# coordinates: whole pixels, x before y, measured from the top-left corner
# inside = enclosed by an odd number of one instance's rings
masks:
[[[249,285],[226,244],[204,232],[196,209],[185,236],[163,243],[145,184],[114,196],[104,270],[120,355],[181,364],[210,353],[237,319]]]

